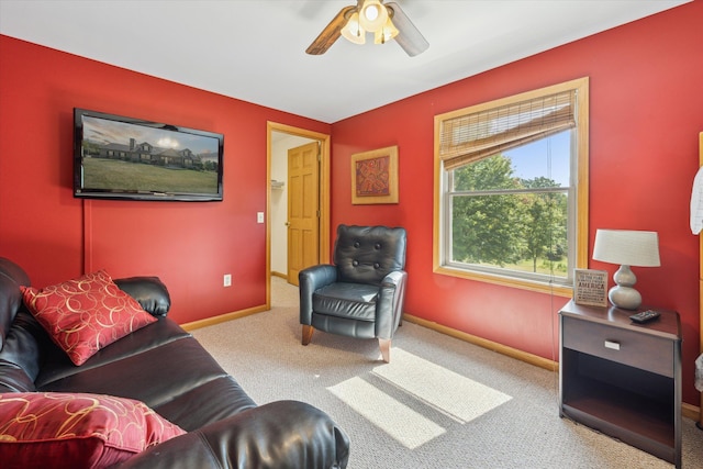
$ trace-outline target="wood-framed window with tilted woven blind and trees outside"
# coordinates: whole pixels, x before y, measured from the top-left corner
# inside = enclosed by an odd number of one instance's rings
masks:
[[[435,271],[571,294],[588,264],[588,78],[435,116]]]

